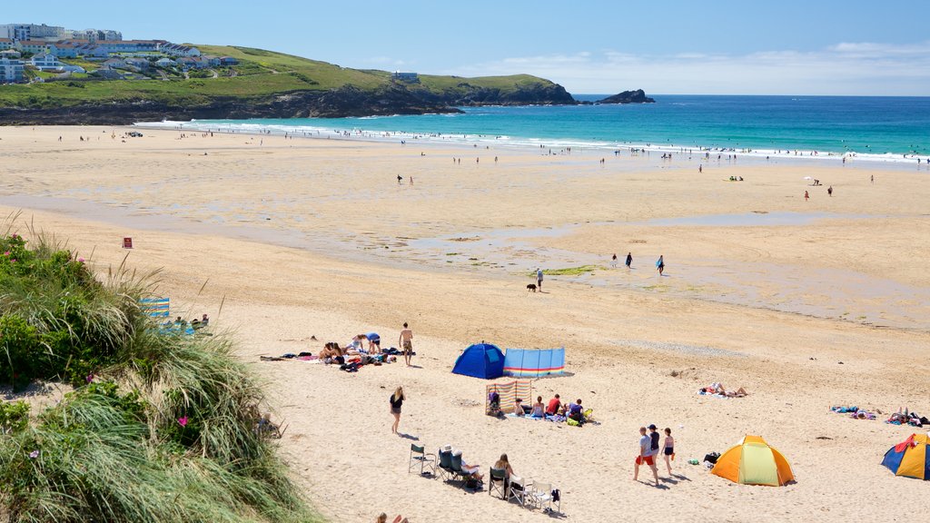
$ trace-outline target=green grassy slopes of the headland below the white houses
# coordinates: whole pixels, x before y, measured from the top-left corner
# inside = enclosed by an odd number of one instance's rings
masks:
[[[219,97],[267,98],[275,94],[343,86],[370,91],[392,83],[391,74],[385,71],[349,69],[325,61],[251,47],[197,47],[204,54],[231,56],[240,63],[219,69],[218,78],[185,79],[179,74],[171,74],[168,80],[63,81],[0,86],[0,107],[38,109],[113,101],[156,101],[196,106]],[[411,87],[448,94],[464,88],[459,84],[496,88],[502,92],[528,85],[552,85],[548,80],[527,74],[479,78],[421,74],[420,84]]]

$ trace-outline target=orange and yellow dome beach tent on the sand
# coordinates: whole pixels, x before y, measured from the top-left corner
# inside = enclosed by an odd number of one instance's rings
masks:
[[[733,449],[717,458],[711,474],[744,485],[770,485],[788,483],[794,476],[788,460],[765,443],[762,436],[745,436]]]

